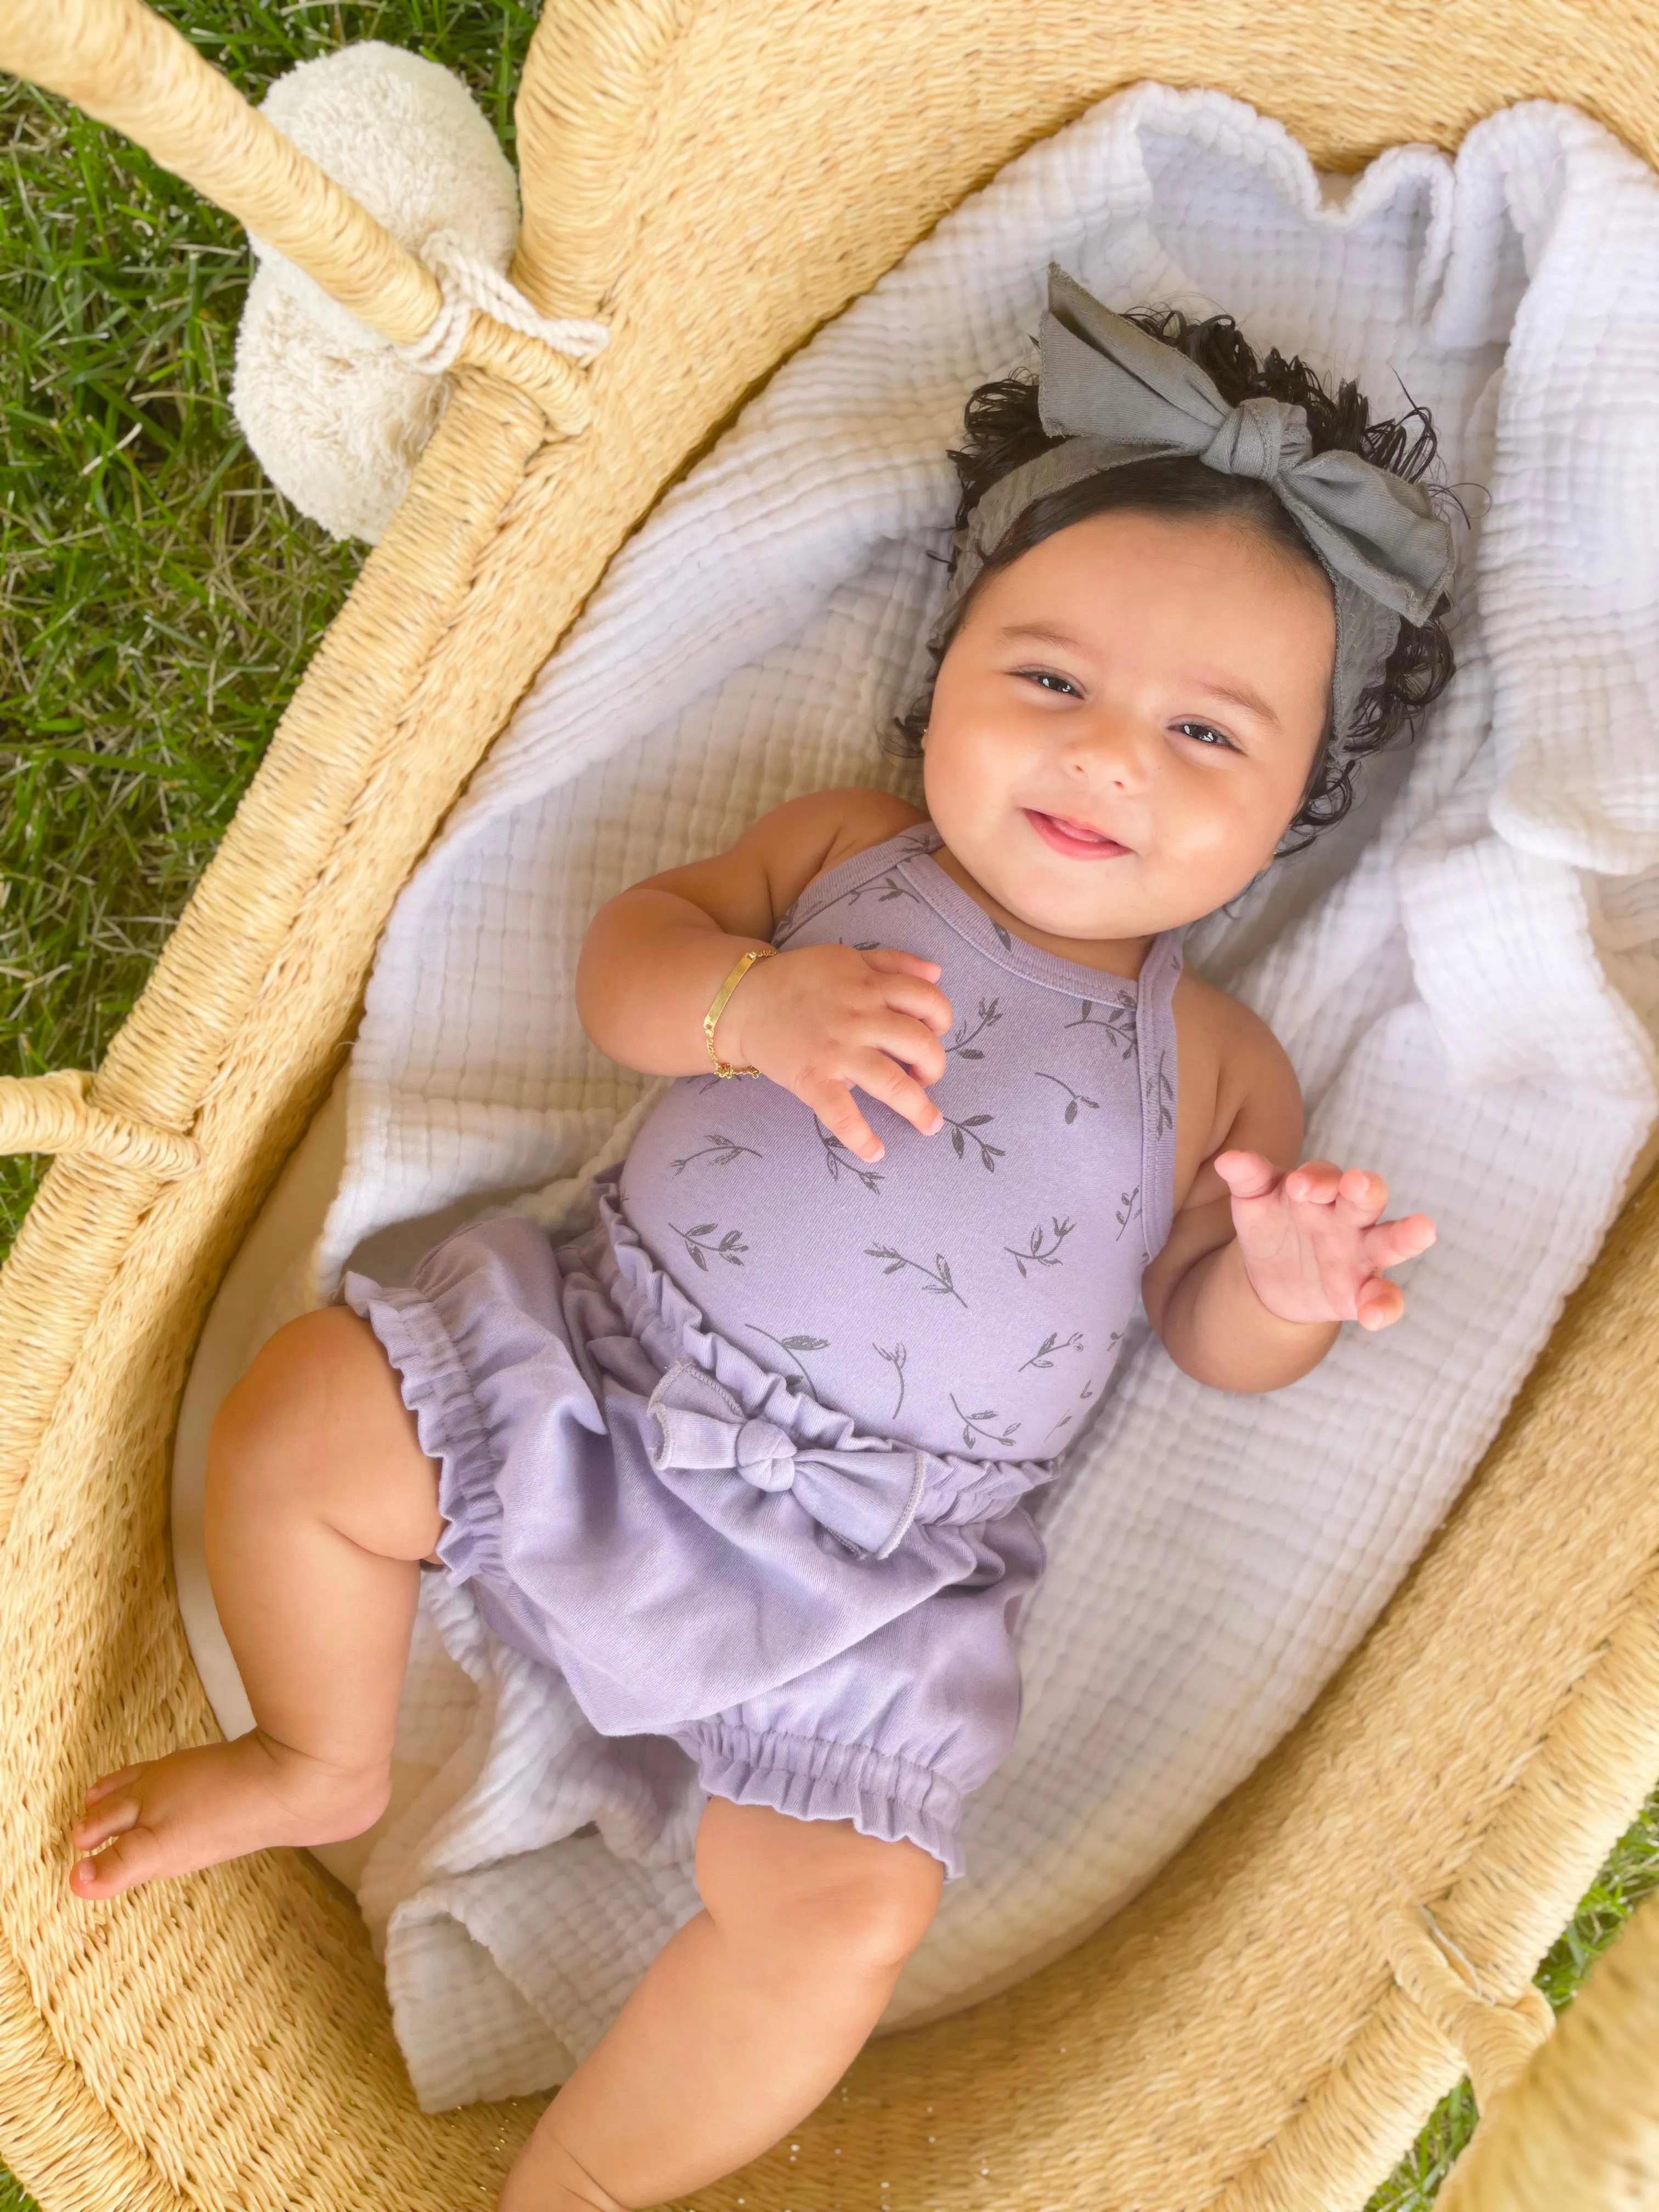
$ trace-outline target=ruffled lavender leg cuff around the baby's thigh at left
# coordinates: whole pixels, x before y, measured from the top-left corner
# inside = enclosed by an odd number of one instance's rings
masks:
[[[438,1305],[420,1290],[387,1290],[367,1274],[347,1274],[341,1296],[367,1321],[398,1369],[398,1391],[416,1418],[420,1449],[438,1460],[438,1511],[445,1520],[438,1557],[456,1582],[484,1577],[507,1584],[489,1422]]]

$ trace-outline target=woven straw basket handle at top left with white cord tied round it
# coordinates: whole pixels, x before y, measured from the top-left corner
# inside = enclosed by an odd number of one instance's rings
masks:
[[[394,345],[449,314],[431,270],[144,0],[7,0],[0,69],[113,124]],[[471,314],[453,365],[529,392],[560,436],[586,429],[571,363],[491,314]]]

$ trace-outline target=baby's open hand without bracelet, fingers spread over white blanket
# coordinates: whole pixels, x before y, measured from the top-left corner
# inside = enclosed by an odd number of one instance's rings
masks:
[[[1405,1312],[1398,1267],[1433,1243],[1433,1221],[1383,1221],[1389,1186],[1365,1168],[1310,1159],[1281,1175],[1261,1152],[1219,1152],[1250,1287],[1281,1321],[1358,1321],[1387,1329]]]

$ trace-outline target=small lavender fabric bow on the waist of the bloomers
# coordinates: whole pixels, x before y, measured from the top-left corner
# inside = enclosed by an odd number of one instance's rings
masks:
[[[922,1502],[931,1455],[907,1447],[865,1451],[796,1444],[774,1420],[752,1418],[701,1367],[679,1360],[650,1394],[659,1440],[650,1464],[699,1473],[732,1469],[757,1491],[794,1491],[849,1551],[885,1559]]]

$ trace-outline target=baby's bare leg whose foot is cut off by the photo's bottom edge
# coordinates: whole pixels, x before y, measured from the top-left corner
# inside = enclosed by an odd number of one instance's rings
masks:
[[[546,2108],[500,2212],[655,2205],[776,2143],[874,2028],[940,1880],[914,1843],[712,1798],[701,1913]]]

